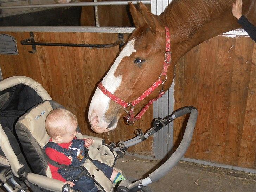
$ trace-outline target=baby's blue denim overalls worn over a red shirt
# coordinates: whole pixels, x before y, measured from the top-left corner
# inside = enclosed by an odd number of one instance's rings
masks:
[[[98,188],[95,186],[94,181],[87,175],[83,174],[82,176],[79,175],[82,172],[82,169],[79,168],[86,159],[90,158],[88,155],[88,149],[84,146],[84,140],[82,139],[73,139],[72,144],[69,149],[65,149],[60,147],[57,143],[48,142],[44,149],[50,147],[55,149],[56,151],[63,153],[68,157],[72,157],[72,162],[69,165],[71,168],[59,168],[58,173],[67,181],[73,181],[75,185],[72,187],[74,189],[79,189],[82,192],[97,192]],[[97,160],[92,160],[94,165],[103,171],[103,173],[110,179],[113,167],[110,167],[104,163],[101,163]],[[86,173],[86,172],[84,172]],[[79,179],[77,180],[77,176]]]

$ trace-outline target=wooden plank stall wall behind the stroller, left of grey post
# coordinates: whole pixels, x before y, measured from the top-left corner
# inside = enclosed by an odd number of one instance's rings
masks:
[[[134,130],[150,128],[153,119],[151,107],[142,119],[133,126],[121,119],[118,127],[109,133],[95,134],[90,129],[87,118],[92,95],[119,53],[119,47],[90,49],[83,47],[37,46],[37,53],[30,54],[31,46],[19,42],[30,37],[29,32],[2,32],[17,40],[19,55],[0,55],[0,66],[4,78],[15,75],[31,77],[39,82],[53,100],[71,110],[78,118],[82,133],[105,138],[107,142],[117,142],[135,137]],[[118,39],[117,33],[62,33],[34,32],[35,41],[59,43],[106,44]],[[128,34],[125,34],[125,38]],[[129,152],[153,155],[152,139],[129,148]]]

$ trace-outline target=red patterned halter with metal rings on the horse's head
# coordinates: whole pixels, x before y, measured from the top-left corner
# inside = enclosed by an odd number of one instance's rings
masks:
[[[166,36],[166,52],[165,52],[165,61],[164,61],[164,66],[163,66],[163,70],[162,73],[160,74],[158,80],[151,85],[150,88],[148,88],[140,97],[136,98],[133,102],[127,103],[123,100],[121,100],[119,97],[113,95],[111,92],[109,92],[102,84],[102,82],[100,82],[100,84],[98,84],[98,88],[103,92],[103,94],[105,94],[106,96],[108,96],[111,100],[115,101],[116,103],[120,104],[121,106],[124,107],[124,111],[127,113],[127,115],[125,116],[125,118],[127,119],[127,123],[129,125],[132,125],[135,121],[139,120],[141,118],[141,116],[146,112],[146,110],[149,108],[149,106],[156,100],[158,100],[160,97],[162,97],[162,95],[164,95],[164,83],[167,80],[167,69],[168,66],[171,63],[171,51],[170,51],[170,33],[169,33],[169,29],[168,27],[165,27],[165,36]],[[165,80],[163,81],[161,79],[161,76],[165,76]],[[150,100],[145,107],[140,111],[140,113],[134,117],[134,107],[136,104],[138,104],[139,102],[141,102],[143,99],[145,99],[149,94],[151,94],[160,84],[162,84],[162,89],[161,91],[159,91],[159,95],[158,97]],[[130,109],[128,109],[130,107]]]

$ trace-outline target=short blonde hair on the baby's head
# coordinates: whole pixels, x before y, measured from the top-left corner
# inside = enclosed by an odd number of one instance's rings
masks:
[[[76,116],[66,109],[53,109],[45,119],[46,132],[52,138],[66,134],[67,128],[75,124]]]

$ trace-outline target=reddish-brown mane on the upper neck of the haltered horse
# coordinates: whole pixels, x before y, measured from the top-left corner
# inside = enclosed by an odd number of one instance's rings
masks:
[[[169,27],[175,36],[188,39],[224,10],[231,13],[232,2],[234,0],[173,0],[159,16],[162,22],[171,24]]]

